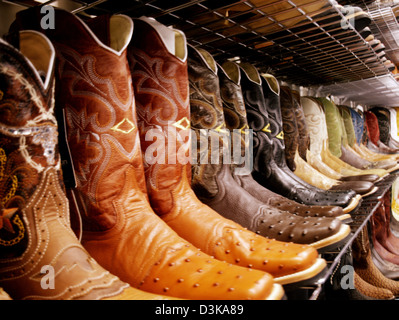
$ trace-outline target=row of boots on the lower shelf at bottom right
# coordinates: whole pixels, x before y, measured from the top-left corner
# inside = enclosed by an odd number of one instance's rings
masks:
[[[378,201],[368,223],[360,229],[350,250],[343,255],[326,289],[330,299],[392,300],[398,297],[399,220],[395,218],[396,209],[391,209],[398,200],[398,186],[396,178]],[[339,271],[343,266],[353,268],[351,277]],[[342,283],[347,285],[344,290]]]

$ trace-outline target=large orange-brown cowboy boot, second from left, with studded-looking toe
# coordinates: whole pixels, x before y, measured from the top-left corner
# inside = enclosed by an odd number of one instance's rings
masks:
[[[19,21],[35,21],[35,13],[22,12]],[[77,184],[69,199],[75,216],[81,213],[85,248],[145,291],[184,299],[281,298],[272,276],[211,258],[151,209],[127,61],[132,20],[101,16],[91,29],[71,13],[55,14],[59,25],[48,33],[57,50],[57,101],[65,106]]]

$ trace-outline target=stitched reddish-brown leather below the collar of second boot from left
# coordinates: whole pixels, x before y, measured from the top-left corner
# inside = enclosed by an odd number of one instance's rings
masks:
[[[118,168],[142,167],[135,160],[140,148],[136,115],[131,111],[133,88],[130,73],[125,71],[126,53],[116,57],[98,52],[98,57],[102,55],[113,68],[105,70],[103,66],[108,64],[97,64],[96,54],[78,54],[63,46],[58,50],[63,83],[59,97],[66,106],[67,139],[73,146],[85,228],[90,230],[109,229],[116,222],[112,201],[118,198],[124,180]],[[140,182],[144,186],[144,181]]]

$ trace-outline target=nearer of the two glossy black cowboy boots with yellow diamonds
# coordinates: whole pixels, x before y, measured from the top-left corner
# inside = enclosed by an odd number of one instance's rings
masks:
[[[274,144],[270,136],[270,122],[259,73],[249,64],[241,64],[240,69],[248,124],[254,130],[254,170],[252,175],[255,180],[266,188],[300,203],[337,205],[344,207],[346,212],[355,209],[359,204],[360,197],[355,197],[354,192],[343,194],[320,190],[295,176],[288,168],[284,149]]]

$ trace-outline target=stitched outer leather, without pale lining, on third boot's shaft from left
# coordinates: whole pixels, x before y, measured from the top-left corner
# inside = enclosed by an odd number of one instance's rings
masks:
[[[187,62],[178,60],[172,54],[165,54],[167,50],[158,35],[152,28],[146,27],[144,22],[135,20],[135,25],[145,30],[135,33],[128,55],[137,101],[141,146],[144,150],[145,177],[151,204],[162,215],[168,213],[174,205],[172,191],[181,182],[183,171],[186,171],[187,177],[191,176],[191,166],[179,163],[181,161],[177,161],[177,153],[169,149],[173,139],[175,150],[189,160],[191,139]],[[153,40],[150,43],[143,37],[151,37]],[[146,140],[146,134],[151,130],[157,131],[165,146],[165,164],[161,161],[146,164],[145,150],[153,143]],[[173,164],[173,161],[176,163]]]

